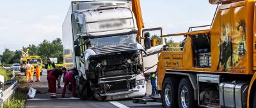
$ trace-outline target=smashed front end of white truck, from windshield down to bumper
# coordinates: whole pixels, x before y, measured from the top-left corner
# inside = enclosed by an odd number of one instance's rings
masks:
[[[90,87],[81,97],[94,94],[98,100],[115,100],[145,95],[142,60],[145,50],[136,43],[136,34],[90,38],[84,42],[87,50],[83,54],[83,77],[77,83],[86,81],[84,86]],[[83,94],[84,91],[78,92]]]

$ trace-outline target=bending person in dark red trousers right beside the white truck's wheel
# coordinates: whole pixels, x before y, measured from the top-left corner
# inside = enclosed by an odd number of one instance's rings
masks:
[[[65,67],[62,68],[62,72],[66,72],[67,69]],[[63,87],[63,90],[62,90],[62,97],[64,98],[65,97],[65,93],[66,93],[66,89],[67,89],[67,85],[68,83],[71,83],[71,86],[72,86],[72,94],[74,97],[77,97],[76,95],[76,80],[75,80],[75,77],[74,76],[77,76],[78,75],[78,71],[76,68],[74,68],[73,70],[70,70],[66,73],[65,75],[65,84],[64,84],[64,87]]]

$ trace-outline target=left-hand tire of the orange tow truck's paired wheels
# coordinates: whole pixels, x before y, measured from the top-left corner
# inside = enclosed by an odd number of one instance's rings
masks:
[[[163,106],[166,108],[177,107],[177,88],[178,80],[176,78],[165,78],[161,92]]]

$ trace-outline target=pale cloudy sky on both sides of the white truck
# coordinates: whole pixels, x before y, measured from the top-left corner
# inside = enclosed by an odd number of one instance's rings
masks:
[[[145,27],[164,27],[164,34],[212,22],[216,5],[208,0],[140,0]],[[61,37],[70,0],[1,0],[0,54]],[[179,41],[179,40],[177,40]]]

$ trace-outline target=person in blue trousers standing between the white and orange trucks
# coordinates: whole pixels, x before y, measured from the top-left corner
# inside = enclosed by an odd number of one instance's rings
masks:
[[[158,94],[158,90],[157,90],[157,75],[156,72],[152,72],[150,74],[150,81],[151,81],[151,85],[152,85],[152,93],[150,96],[156,96]]]

